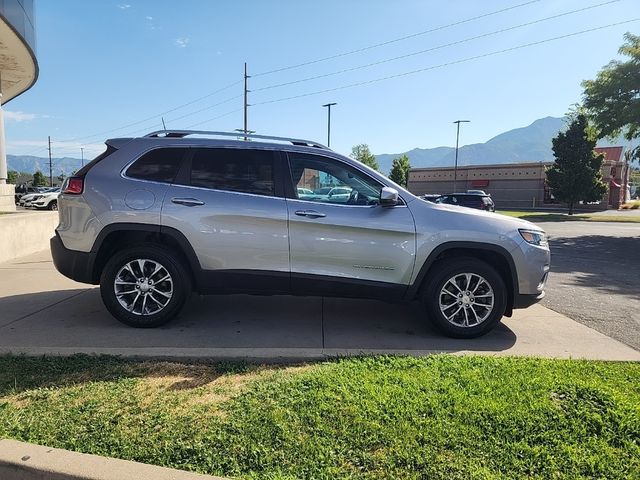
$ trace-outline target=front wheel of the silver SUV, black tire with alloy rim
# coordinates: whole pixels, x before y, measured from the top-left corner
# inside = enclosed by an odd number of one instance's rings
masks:
[[[472,274],[468,291],[471,293],[471,289],[477,287],[476,292],[479,294],[465,295],[463,275],[466,273]],[[478,277],[486,283],[481,282]],[[456,290],[459,287],[450,283],[450,280],[460,282],[462,290]],[[428,282],[423,301],[426,304],[429,319],[449,337],[479,337],[492,330],[504,315],[507,305],[507,289],[504,280],[493,267],[481,260],[472,257],[443,259],[429,272]],[[445,286],[447,291],[453,291],[456,296],[444,293]],[[493,302],[489,308],[491,294]],[[478,296],[477,299],[475,295]],[[447,319],[441,310],[441,301],[445,307],[444,312],[451,317],[451,320]],[[482,320],[479,321],[480,319]],[[467,322],[468,325],[464,325]]]

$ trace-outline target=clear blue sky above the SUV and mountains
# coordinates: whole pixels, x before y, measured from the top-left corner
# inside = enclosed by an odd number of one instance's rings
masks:
[[[80,157],[82,147],[89,158],[106,138],[160,129],[161,116],[168,128],[241,128],[245,61],[249,128],[260,134],[324,143],[321,105],[337,102],[331,146],[341,153],[358,143],[374,153],[452,146],[456,119],[471,120],[461,144],[484,142],[567,112],[580,82],[616,58],[640,22],[493,52],[640,17],[638,0],[619,0],[520,26],[605,1],[39,0],[40,77],[4,105],[7,153],[46,156],[51,135],[55,157]],[[351,71],[328,75],[342,70]]]

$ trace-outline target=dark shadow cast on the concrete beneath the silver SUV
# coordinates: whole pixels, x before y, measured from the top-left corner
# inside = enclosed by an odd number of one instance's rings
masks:
[[[500,324],[473,340],[442,336],[426,321],[419,304],[293,296],[193,295],[182,314],[155,329],[136,329],[106,311],[97,288],[32,293],[0,298],[0,312],[21,311],[0,321],[0,349],[108,353],[109,349],[153,349],[171,356],[176,349],[252,349],[280,360],[300,352],[365,354],[371,351],[502,351],[516,335]],[[1,314],[0,314],[1,315]],[[4,325],[4,326],[2,326]],[[345,353],[345,354],[346,354]],[[135,353],[132,353],[135,354]],[[159,353],[158,356],[161,356]],[[182,353],[188,357],[188,353]],[[205,356],[206,356],[205,355]]]

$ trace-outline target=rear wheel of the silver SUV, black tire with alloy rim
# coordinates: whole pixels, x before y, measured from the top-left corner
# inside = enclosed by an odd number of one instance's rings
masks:
[[[138,260],[142,261],[142,267]],[[129,269],[126,265],[129,265]],[[151,275],[156,265],[164,270],[157,270],[155,275]],[[169,275],[168,280],[165,274]],[[139,283],[141,280],[142,285]],[[157,283],[154,284],[154,281]],[[131,282],[135,284],[129,285]],[[116,289],[119,289],[119,295]],[[126,289],[132,289],[133,293],[127,293],[129,290]],[[100,294],[105,307],[116,319],[131,327],[164,325],[180,313],[190,293],[191,277],[180,257],[156,244],[136,245],[115,253],[100,277]],[[162,305],[164,301],[166,304]],[[131,303],[132,310],[124,305]],[[155,308],[158,310],[154,311]]]

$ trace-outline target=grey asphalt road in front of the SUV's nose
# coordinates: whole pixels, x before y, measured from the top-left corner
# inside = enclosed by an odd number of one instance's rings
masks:
[[[640,350],[640,224],[539,224],[551,237],[543,305]]]

